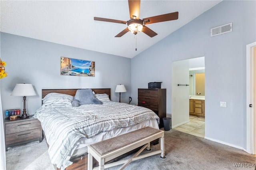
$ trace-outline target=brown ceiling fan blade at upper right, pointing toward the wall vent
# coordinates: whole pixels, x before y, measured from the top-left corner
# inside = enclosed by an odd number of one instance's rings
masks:
[[[149,18],[144,18],[143,21],[145,22],[145,24],[153,24],[156,22],[177,20],[178,15],[179,15],[179,12],[172,12],[169,14],[163,14],[163,15],[158,15],[158,16],[152,16]]]

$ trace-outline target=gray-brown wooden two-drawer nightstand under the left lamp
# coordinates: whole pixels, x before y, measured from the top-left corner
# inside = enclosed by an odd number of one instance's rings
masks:
[[[18,117],[16,120],[4,120],[5,150],[8,146],[27,143],[36,138],[42,142],[42,127],[40,121],[32,118],[26,119]]]

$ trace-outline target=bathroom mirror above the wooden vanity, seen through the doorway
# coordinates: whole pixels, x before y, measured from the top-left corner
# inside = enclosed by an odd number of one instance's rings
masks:
[[[189,70],[189,95],[204,96],[204,68]]]

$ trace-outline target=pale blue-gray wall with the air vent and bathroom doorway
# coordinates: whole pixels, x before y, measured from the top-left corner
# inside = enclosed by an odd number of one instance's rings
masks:
[[[222,1],[132,58],[134,103],[138,88],[162,81],[171,114],[172,62],[205,56],[205,136],[246,148],[246,45],[256,41],[255,7],[256,1]],[[210,37],[211,28],[230,22],[232,32]]]

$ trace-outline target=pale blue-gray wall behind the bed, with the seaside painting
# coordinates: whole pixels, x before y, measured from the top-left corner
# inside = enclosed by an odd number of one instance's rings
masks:
[[[95,77],[60,75],[60,57],[95,61]],[[131,94],[131,59],[56,43],[1,33],[1,58],[6,61],[8,77],[1,79],[2,108],[23,110],[22,97],[10,96],[16,83],[31,83],[38,95],[28,96],[27,107],[34,114],[42,103],[42,89],[111,88],[112,101],[116,85],[124,84],[122,102]]]

